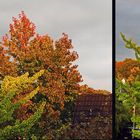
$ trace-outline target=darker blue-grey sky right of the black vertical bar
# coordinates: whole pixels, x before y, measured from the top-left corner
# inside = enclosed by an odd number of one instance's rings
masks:
[[[140,0],[116,0],[116,58],[134,58],[134,52],[124,47],[120,37],[123,32],[140,45]]]

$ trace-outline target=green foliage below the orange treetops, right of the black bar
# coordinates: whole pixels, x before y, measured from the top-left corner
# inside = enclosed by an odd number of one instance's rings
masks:
[[[140,138],[140,131],[137,130],[140,129],[140,81],[137,81],[132,85],[129,85],[128,83],[122,84],[121,81],[116,81],[116,117],[119,117],[117,118],[117,123],[120,123],[119,125],[121,125],[123,121],[127,122],[128,118],[126,116],[128,116],[127,112],[129,112],[130,115],[128,117],[136,124],[136,130],[132,130],[133,136]]]

